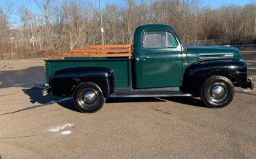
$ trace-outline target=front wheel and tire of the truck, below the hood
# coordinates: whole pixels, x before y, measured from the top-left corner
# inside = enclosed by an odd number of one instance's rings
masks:
[[[211,108],[222,108],[232,102],[235,88],[230,79],[220,75],[209,77],[201,88],[201,100]]]

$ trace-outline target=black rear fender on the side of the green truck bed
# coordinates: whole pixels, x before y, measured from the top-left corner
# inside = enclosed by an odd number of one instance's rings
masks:
[[[105,97],[113,93],[113,71],[103,67],[75,67],[55,71],[51,75],[51,91],[57,96],[72,95],[75,86],[80,82],[98,84]]]

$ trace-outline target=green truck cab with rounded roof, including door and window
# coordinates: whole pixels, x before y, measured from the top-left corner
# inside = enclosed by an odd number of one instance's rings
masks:
[[[174,28],[163,24],[139,26],[134,35],[134,88],[182,86],[184,58]]]

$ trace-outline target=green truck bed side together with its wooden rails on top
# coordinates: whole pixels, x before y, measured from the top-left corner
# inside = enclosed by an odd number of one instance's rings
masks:
[[[46,56],[46,82],[55,71],[71,67],[110,68],[116,88],[131,88],[132,45],[90,45],[86,49],[71,50],[71,53]]]

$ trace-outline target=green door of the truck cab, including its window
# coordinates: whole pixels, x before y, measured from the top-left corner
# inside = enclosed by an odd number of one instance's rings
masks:
[[[181,44],[173,32],[143,32],[142,87],[181,86],[182,54]]]

